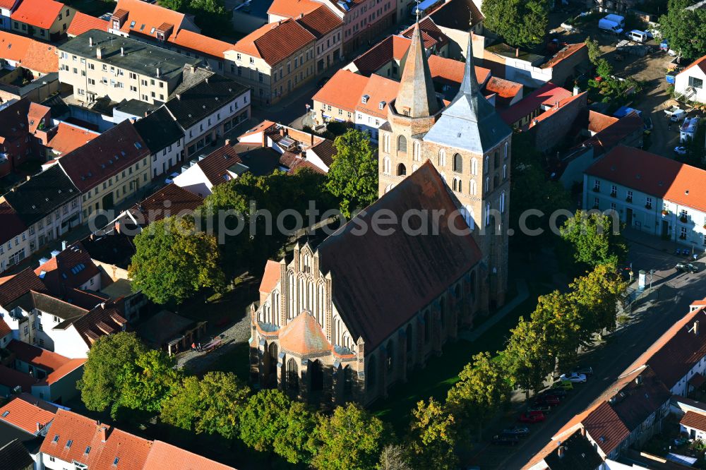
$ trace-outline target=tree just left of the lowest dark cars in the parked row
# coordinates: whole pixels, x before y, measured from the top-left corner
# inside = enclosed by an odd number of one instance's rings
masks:
[[[476,428],[481,439],[484,425],[510,399],[512,387],[505,375],[501,363],[492,361],[488,352],[476,354],[466,364],[446,399],[459,430]]]

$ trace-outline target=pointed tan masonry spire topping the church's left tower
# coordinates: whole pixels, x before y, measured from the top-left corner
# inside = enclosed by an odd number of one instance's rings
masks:
[[[412,43],[409,44],[405,70],[402,71],[400,91],[395,100],[395,111],[410,117],[426,117],[439,110],[436,92],[431,83],[429,62],[421,42],[419,23],[414,25]]]

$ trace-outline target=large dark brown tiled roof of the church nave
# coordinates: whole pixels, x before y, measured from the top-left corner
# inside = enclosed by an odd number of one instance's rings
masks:
[[[406,234],[408,211],[439,211],[438,234]],[[393,234],[368,229],[376,213],[393,214]],[[411,217],[414,228],[419,217]],[[418,227],[418,226],[417,226]],[[454,234],[450,227],[454,227]],[[465,230],[463,230],[465,229]],[[463,231],[463,234],[458,234]],[[354,337],[374,348],[437,299],[481,259],[481,252],[430,162],[318,246],[321,271],[333,279],[333,302]]]

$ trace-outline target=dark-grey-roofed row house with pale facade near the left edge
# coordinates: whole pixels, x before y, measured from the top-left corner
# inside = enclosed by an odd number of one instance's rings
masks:
[[[23,241],[19,253],[16,248],[9,249],[9,240],[0,248],[0,256],[4,251],[15,253],[7,264],[5,260],[0,261],[2,270],[37,253],[47,243],[61,239],[83,222],[80,192],[60,167],[50,167],[32,176],[0,200],[12,207],[25,227],[19,235]]]

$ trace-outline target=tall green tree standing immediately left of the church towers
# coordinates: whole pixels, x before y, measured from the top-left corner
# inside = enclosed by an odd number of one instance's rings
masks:
[[[369,138],[349,129],[334,140],[336,156],[328,171],[327,188],[340,199],[340,210],[351,217],[356,209],[378,198],[378,160]]]

